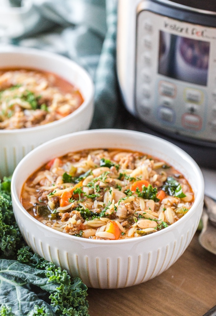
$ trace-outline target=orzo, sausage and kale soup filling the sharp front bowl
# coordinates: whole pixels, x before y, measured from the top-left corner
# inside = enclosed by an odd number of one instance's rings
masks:
[[[21,203],[60,232],[118,240],[155,233],[190,210],[184,176],[153,156],[90,149],[56,157],[29,177]]]

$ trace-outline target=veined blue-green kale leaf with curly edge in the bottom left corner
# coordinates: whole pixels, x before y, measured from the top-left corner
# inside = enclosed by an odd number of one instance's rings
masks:
[[[19,253],[25,263],[0,259],[0,315],[89,315],[87,287],[79,278],[71,279],[27,246]]]

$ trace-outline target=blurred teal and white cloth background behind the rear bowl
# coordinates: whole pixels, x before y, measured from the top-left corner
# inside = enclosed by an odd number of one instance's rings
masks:
[[[117,0],[1,0],[0,47],[44,49],[83,66],[95,83],[91,128],[114,126]]]

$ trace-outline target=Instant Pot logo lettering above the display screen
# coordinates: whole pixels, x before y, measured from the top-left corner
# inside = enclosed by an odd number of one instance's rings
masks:
[[[216,39],[216,36],[211,36],[208,34],[208,29],[200,29],[196,26],[191,27],[184,27],[182,25],[178,25],[177,23],[170,23],[168,21],[164,21],[164,27],[168,31],[175,31],[177,33],[186,34],[186,35],[193,35],[197,38],[203,38],[203,39]]]

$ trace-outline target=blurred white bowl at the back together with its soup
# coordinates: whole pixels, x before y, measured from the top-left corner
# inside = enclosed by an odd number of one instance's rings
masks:
[[[0,50],[0,178],[38,145],[90,127],[94,86],[69,58],[9,46]]]

